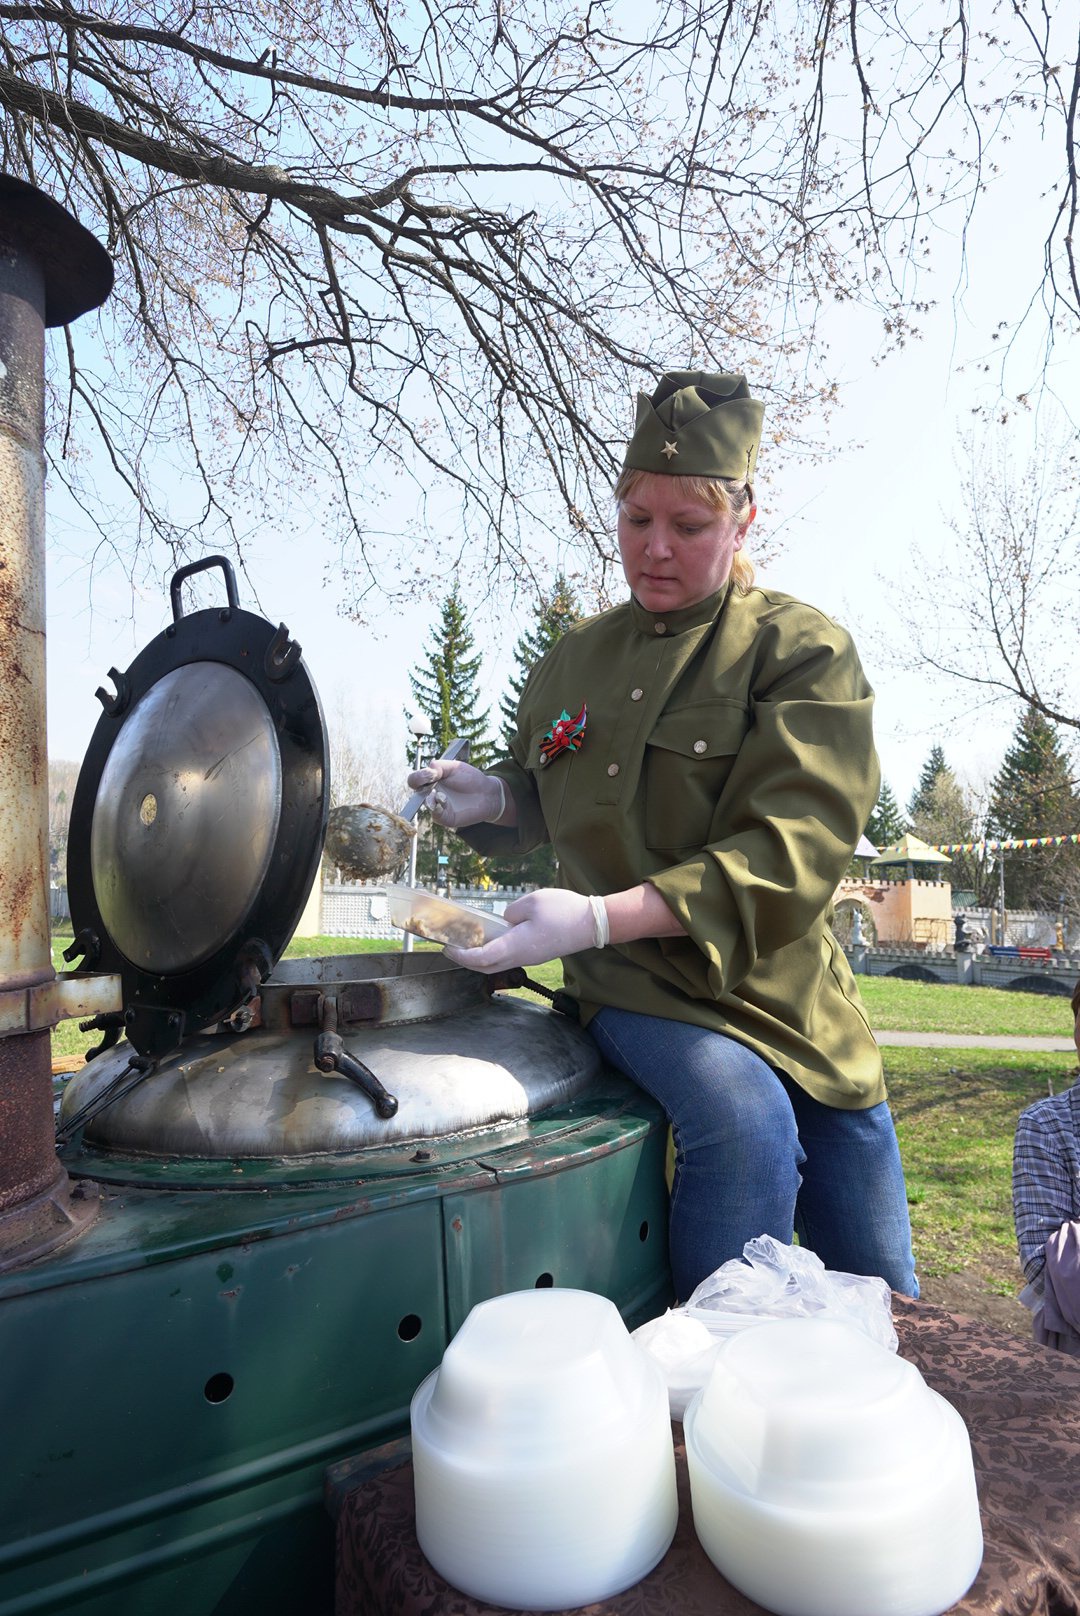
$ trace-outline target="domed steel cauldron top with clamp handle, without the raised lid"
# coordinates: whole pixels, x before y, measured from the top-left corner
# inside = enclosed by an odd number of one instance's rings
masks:
[[[128,1070],[121,1046],[68,1086],[61,1126],[91,1113],[87,1144],[170,1159],[267,1159],[275,1178],[356,1172],[372,1149],[440,1141],[440,1160],[508,1143],[532,1115],[566,1105],[601,1071],[593,1042],[546,1007],[496,995],[441,953],[369,953],[286,960],[239,1031],[184,1041],[121,1099],[97,1100]],[[325,1028],[333,1025],[335,1033]],[[328,1036],[336,1068],[320,1070]],[[393,1100],[382,1110],[382,1097]],[[170,1178],[183,1176],[179,1162]],[[228,1175],[225,1175],[228,1180]],[[205,1170],[200,1178],[205,1181]]]

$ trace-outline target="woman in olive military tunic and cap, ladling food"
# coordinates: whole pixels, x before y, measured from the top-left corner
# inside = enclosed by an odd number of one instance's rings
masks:
[[[480,853],[553,844],[561,886],[448,953],[563,957],[603,1055],[664,1107],[679,1298],[792,1231],[913,1296],[881,1055],[826,924],[878,797],[873,693],[837,624],[752,583],[761,417],[740,375],[639,396],[616,486],[631,598],[537,663],[509,758],[409,784]]]

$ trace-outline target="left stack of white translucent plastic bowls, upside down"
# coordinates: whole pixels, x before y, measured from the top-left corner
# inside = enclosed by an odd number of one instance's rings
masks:
[[[491,1605],[610,1598],[674,1537],[663,1375],[590,1291],[472,1309],[412,1398],[412,1471],[420,1548]]]

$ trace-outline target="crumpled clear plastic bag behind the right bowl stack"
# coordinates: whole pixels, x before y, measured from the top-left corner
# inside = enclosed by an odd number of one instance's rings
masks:
[[[634,1332],[663,1370],[671,1417],[708,1380],[716,1354],[737,1330],[765,1319],[841,1319],[896,1353],[892,1293],[884,1280],[826,1269],[805,1246],[783,1246],[758,1235],[742,1257],[724,1262],[682,1307],[671,1307]]]

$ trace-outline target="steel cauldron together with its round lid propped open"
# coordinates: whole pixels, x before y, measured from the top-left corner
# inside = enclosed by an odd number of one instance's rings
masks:
[[[225,608],[184,614],[183,583],[215,569]],[[124,1008],[99,1018],[61,1133],[200,1162],[435,1138],[467,1154],[477,1130],[584,1092],[600,1058],[572,1021],[493,1005],[504,983],[441,955],[275,968],[327,824],[319,696],[285,625],[241,611],[225,558],[178,572],[171,603],[165,633],[112,671],[116,693],[99,692],[74,792],[71,953],[120,973]]]

